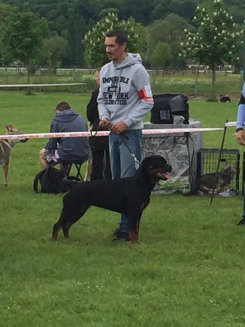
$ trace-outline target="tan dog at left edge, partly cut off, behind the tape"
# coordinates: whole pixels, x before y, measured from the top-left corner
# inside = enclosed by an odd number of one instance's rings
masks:
[[[5,135],[23,134],[19,129],[13,125],[5,125],[7,132]],[[8,186],[8,167],[11,156],[11,151],[15,144],[19,142],[26,142],[28,139],[6,139],[0,140],[0,165],[3,166],[4,185]]]

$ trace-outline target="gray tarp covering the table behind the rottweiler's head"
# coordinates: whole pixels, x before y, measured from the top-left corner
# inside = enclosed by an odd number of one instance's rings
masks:
[[[196,128],[201,122],[189,119],[189,124],[144,123],[144,129]],[[172,165],[171,181],[160,181],[154,193],[189,193],[196,188],[197,151],[203,147],[203,133],[152,134],[143,136],[143,158],[158,154]]]

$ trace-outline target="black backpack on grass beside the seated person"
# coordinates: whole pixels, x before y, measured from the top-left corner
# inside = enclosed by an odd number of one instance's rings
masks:
[[[65,174],[62,170],[56,169],[54,167],[48,167],[41,170],[37,176],[34,178],[33,188],[37,193],[49,193],[49,194],[59,194],[65,193],[69,190],[69,187],[62,184],[62,179]],[[38,190],[38,184],[41,185],[41,190]]]

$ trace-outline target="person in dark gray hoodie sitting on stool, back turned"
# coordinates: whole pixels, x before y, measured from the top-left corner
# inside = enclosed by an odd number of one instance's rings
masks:
[[[69,103],[60,102],[56,107],[50,133],[60,132],[87,132],[88,127],[83,116],[73,110]],[[68,167],[62,163],[83,162],[88,160],[90,153],[89,141],[85,137],[76,138],[50,138],[39,153],[42,169],[61,163],[61,169]]]

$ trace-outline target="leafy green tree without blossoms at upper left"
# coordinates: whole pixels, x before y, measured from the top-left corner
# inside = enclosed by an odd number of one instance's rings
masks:
[[[30,61],[39,60],[43,48],[43,40],[48,35],[48,24],[30,11],[28,3],[24,11],[14,8],[6,21],[3,46],[8,60],[20,61],[28,65]],[[30,82],[28,69],[28,83]]]

